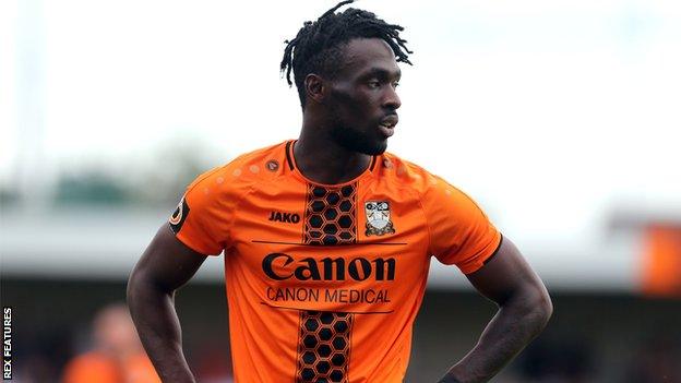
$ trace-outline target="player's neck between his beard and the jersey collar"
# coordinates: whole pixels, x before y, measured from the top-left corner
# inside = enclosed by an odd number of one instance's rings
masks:
[[[343,183],[361,175],[371,156],[338,145],[321,121],[303,116],[300,136],[294,146],[298,170],[319,183]]]

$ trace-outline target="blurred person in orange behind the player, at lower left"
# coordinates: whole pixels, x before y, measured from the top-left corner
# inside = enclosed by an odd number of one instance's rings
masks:
[[[127,306],[110,304],[96,314],[93,343],[92,350],[69,361],[63,383],[160,383]]]

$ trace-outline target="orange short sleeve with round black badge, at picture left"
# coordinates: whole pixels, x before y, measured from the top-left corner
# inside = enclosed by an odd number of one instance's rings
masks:
[[[199,176],[168,220],[177,239],[205,255],[219,255],[228,242],[230,212],[219,170]]]

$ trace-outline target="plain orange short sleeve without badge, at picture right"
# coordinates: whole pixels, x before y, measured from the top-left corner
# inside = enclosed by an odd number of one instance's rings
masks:
[[[428,220],[431,253],[464,274],[480,267],[497,252],[501,234],[464,192],[433,176],[421,204]]]

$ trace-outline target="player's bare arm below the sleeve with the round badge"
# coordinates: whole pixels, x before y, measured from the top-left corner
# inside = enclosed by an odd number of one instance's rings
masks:
[[[175,291],[196,273],[205,259],[206,255],[175,238],[165,224],[128,280],[130,313],[163,382],[195,382],[182,352]]]

